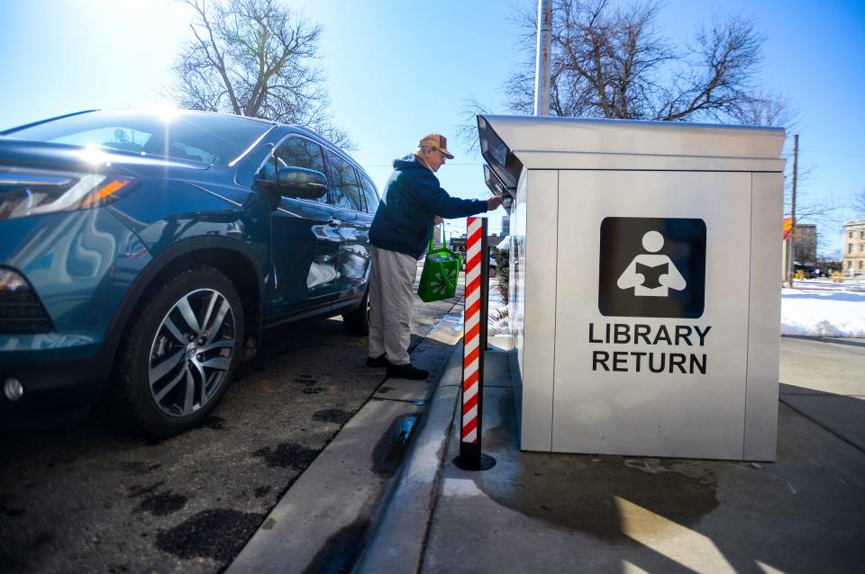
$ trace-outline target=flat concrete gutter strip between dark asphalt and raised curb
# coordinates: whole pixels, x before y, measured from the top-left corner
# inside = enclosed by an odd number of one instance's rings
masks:
[[[422,337],[412,349],[412,363],[428,369],[430,377],[382,381],[278,500],[228,574],[351,569],[363,552],[365,533],[375,532],[382,501],[401,476],[454,347],[461,348],[460,333],[461,316],[449,313]],[[414,430],[406,431],[409,427]]]

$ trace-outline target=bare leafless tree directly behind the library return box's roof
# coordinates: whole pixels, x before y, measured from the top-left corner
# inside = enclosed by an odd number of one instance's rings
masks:
[[[777,114],[760,94],[763,36],[742,17],[715,18],[692,45],[676,48],[655,26],[660,2],[556,0],[551,27],[552,115],[753,123]],[[517,18],[534,56],[537,14]],[[531,59],[527,58],[527,64]],[[531,113],[534,67],[505,82],[511,112]],[[773,104],[774,105],[774,104]],[[778,105],[783,108],[783,101]],[[755,117],[756,116],[756,117]]]

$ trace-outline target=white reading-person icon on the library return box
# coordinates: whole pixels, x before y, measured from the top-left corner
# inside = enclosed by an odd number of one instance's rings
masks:
[[[678,273],[672,260],[665,255],[652,255],[664,247],[664,236],[657,231],[647,231],[642,236],[642,247],[650,253],[633,258],[631,265],[615,282],[619,289],[633,287],[636,297],[667,297],[669,289],[685,289],[685,278]]]

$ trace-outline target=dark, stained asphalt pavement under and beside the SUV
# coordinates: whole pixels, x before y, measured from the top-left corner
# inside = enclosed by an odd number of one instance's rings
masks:
[[[385,379],[338,320],[271,335],[183,435],[0,432],[0,572],[223,570]]]

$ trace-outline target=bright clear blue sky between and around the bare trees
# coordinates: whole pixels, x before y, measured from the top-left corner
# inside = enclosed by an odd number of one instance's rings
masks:
[[[324,27],[323,67],[335,121],[381,186],[394,157],[429,131],[455,136],[463,100],[496,103],[524,61],[512,22],[534,0],[309,0],[291,4]],[[865,2],[669,0],[660,28],[687,40],[712,13],[741,13],[767,36],[762,78],[800,112],[802,202],[850,204],[865,189]],[[190,10],[171,0],[0,0],[0,129],[64,112],[142,107],[162,99]],[[445,189],[485,197],[480,160],[459,153],[439,172]],[[491,216],[497,229],[500,215]],[[837,219],[851,218],[842,211]],[[458,225],[451,226],[457,231]],[[840,225],[820,244],[841,249]]]

